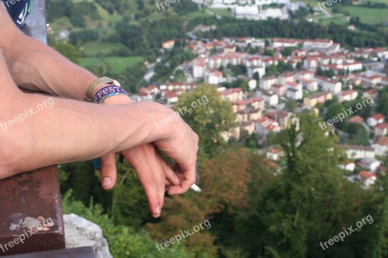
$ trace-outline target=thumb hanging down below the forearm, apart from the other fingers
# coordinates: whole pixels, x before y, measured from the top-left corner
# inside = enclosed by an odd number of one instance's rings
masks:
[[[109,154],[100,158],[101,186],[105,190],[112,189],[116,182],[117,170],[114,154]]]

